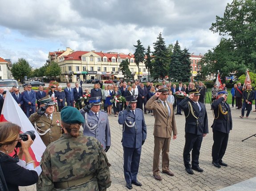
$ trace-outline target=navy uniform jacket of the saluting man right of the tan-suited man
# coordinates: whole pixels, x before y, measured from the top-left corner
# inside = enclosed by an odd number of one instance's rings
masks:
[[[199,101],[198,103],[202,108],[200,112],[199,107],[189,97],[186,97],[185,99],[180,101],[179,107],[184,110],[184,114],[186,117],[185,132],[202,135],[203,133],[209,133],[208,118],[205,105]],[[193,111],[193,113],[191,113],[191,110]],[[196,119],[195,117],[198,118]]]

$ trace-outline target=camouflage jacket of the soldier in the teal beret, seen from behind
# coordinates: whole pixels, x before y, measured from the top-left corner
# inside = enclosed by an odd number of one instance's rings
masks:
[[[88,181],[65,191],[106,191],[110,187],[110,164],[100,142],[79,132],[77,138],[62,134],[59,140],[49,144],[42,160],[42,173],[37,182],[38,191],[58,191],[58,183],[73,183],[91,176]],[[79,182],[79,181],[78,181]]]

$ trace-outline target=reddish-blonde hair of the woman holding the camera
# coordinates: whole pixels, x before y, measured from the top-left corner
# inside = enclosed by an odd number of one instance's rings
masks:
[[[20,133],[20,126],[11,122],[0,122],[0,146],[12,144]]]

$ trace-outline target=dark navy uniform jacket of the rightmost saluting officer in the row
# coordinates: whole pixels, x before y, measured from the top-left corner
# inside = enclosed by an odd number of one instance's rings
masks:
[[[229,133],[232,130],[231,109],[227,103],[223,103],[224,98],[220,97],[212,102],[212,109],[214,111],[214,121],[211,125],[212,130],[220,131],[222,133]],[[220,110],[221,108],[221,110]],[[227,114],[223,114],[226,113]]]

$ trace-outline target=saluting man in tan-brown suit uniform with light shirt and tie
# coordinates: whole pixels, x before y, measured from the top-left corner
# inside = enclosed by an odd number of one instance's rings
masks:
[[[156,180],[162,180],[159,175],[159,156],[162,150],[162,172],[173,176],[169,170],[169,148],[171,133],[177,138],[175,115],[171,103],[168,103],[168,88],[159,89],[146,103],[147,110],[154,110],[154,158],[153,175]],[[158,100],[157,100],[158,99]]]

